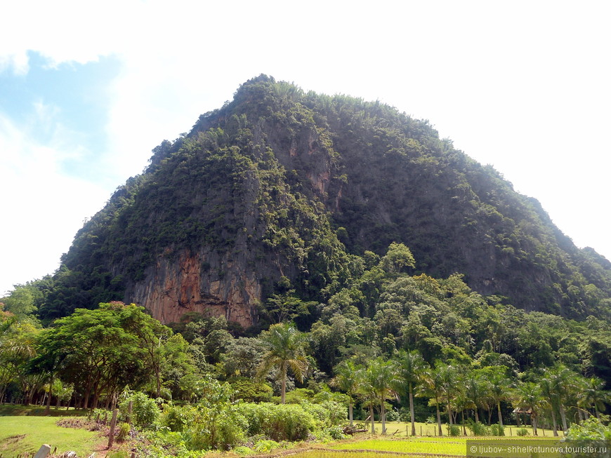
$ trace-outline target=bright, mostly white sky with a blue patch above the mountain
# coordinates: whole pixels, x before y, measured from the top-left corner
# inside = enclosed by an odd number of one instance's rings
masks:
[[[611,260],[607,1],[13,1],[0,18],[0,297],[258,74],[380,100]]]

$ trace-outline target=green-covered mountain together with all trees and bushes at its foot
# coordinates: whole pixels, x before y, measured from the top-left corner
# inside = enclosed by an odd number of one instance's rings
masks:
[[[378,102],[244,83],[62,262],[0,299],[0,403],[129,399],[176,450],[341,437],[347,417],[501,435],[514,408],[532,433],[610,413],[610,262]]]

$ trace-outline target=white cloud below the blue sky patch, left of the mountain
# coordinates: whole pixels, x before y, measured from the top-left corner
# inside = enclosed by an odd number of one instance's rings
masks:
[[[53,273],[84,218],[108,197],[97,184],[62,173],[62,161],[79,154],[78,145],[57,137],[39,144],[29,133],[0,115],[0,295],[15,283]]]

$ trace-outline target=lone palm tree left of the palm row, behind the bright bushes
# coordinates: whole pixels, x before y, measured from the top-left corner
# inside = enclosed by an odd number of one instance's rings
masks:
[[[289,368],[299,382],[308,370],[306,359],[306,335],[294,325],[278,323],[261,333],[261,340],[268,347],[258,368],[259,377],[265,377],[274,367],[279,369],[280,400],[284,404],[287,395],[287,372]]]

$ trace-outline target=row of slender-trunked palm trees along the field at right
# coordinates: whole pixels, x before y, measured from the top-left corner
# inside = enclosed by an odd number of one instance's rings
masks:
[[[375,358],[367,365],[343,361],[336,367],[333,384],[350,398],[348,415],[353,424],[353,403],[362,400],[369,408],[374,433],[374,405],[379,408],[382,434],[386,433],[387,400],[407,398],[412,422],[412,436],[416,435],[414,396],[429,399],[435,405],[438,435],[442,436],[441,413],[445,410],[450,426],[457,424],[461,415],[463,433],[465,415],[473,411],[475,422],[480,412],[486,411],[490,424],[497,412],[503,426],[503,404],[528,411],[532,419],[533,434],[537,436],[537,419],[551,417],[554,436],[558,436],[558,415],[563,431],[568,429],[567,410],[580,421],[589,415],[600,417],[605,403],[610,402],[605,382],[597,377],[585,378],[558,365],[546,368],[537,382],[520,382],[512,377],[505,366],[471,368],[467,365],[449,365],[441,362],[431,366],[417,351],[399,351],[395,358]],[[519,422],[519,417],[518,417]]]

